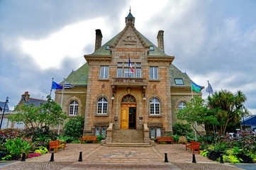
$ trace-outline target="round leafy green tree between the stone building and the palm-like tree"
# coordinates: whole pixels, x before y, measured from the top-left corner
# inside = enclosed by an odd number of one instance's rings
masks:
[[[218,121],[216,116],[208,110],[204,99],[199,98],[199,96],[194,96],[191,98],[190,102],[185,104],[186,108],[178,111],[177,118],[179,120],[185,120],[187,123],[201,125],[205,128],[205,125],[217,125]],[[194,128],[196,130],[196,128]],[[199,132],[197,132],[199,134]],[[200,135],[200,134],[199,134]]]

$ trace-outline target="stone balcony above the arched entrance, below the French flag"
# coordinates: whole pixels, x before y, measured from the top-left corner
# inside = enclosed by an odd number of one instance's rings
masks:
[[[147,79],[144,78],[113,78],[112,86],[147,86]]]

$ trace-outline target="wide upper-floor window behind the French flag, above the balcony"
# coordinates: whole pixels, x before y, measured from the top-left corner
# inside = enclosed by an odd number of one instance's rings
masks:
[[[141,78],[141,63],[140,62],[136,62],[136,63],[132,62],[130,64],[133,67],[133,72],[131,71],[128,62],[118,62],[116,76],[118,78],[122,78],[122,77]]]

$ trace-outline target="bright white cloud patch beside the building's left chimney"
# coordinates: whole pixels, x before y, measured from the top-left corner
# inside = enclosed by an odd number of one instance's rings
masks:
[[[35,60],[41,69],[60,68],[65,57],[75,58],[84,55],[86,45],[94,44],[97,28],[108,34],[104,18],[95,18],[65,26],[61,30],[40,40],[20,38],[21,50]]]

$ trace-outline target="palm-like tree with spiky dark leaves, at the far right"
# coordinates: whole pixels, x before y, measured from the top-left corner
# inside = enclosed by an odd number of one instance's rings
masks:
[[[217,115],[220,133],[224,135],[228,123],[237,123],[243,114],[243,103],[247,100],[242,91],[233,94],[227,90],[216,91],[208,96],[208,107]]]

